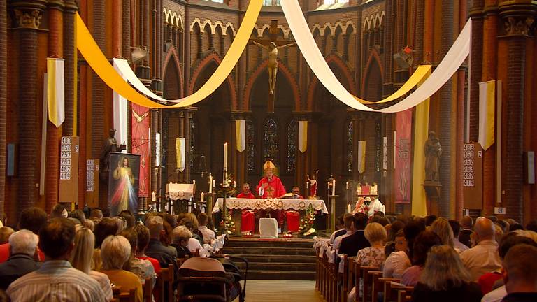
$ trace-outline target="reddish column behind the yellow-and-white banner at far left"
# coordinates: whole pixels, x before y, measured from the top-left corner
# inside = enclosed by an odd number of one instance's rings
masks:
[[[48,56],[63,57],[63,9],[62,1],[49,2],[48,6]],[[71,115],[72,116],[72,115]],[[59,197],[59,140],[62,127],[47,122],[47,161],[45,173],[45,211],[50,213]]]

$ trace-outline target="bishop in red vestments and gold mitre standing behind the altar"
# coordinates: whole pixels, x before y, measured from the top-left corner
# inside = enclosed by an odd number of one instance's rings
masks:
[[[274,164],[272,161],[266,161],[263,165],[265,171],[265,177],[259,180],[257,185],[257,192],[261,198],[280,198],[285,195],[285,187],[282,184],[280,178],[274,175]],[[272,210],[270,212],[271,217],[275,217],[278,220],[278,227],[283,227],[284,215],[282,210]]]

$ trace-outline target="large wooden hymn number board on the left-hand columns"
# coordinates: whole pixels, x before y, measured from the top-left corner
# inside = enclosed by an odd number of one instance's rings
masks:
[[[59,203],[78,202],[79,138],[62,136],[59,145]]]

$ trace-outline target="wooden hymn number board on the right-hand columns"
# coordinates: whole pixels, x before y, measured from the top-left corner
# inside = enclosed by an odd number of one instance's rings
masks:
[[[479,143],[465,143],[462,152],[464,208],[478,210],[482,203],[483,150]]]

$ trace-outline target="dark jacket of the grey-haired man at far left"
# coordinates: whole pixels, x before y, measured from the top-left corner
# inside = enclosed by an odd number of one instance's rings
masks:
[[[36,271],[40,266],[41,263],[27,254],[12,254],[6,262],[0,264],[0,289],[8,289],[11,282]]]

